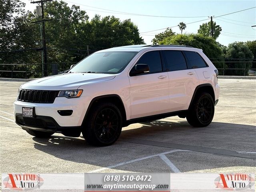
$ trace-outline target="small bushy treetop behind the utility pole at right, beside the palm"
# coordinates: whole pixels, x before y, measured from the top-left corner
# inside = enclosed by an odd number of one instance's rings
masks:
[[[213,30],[213,36],[212,36],[212,30]],[[212,27],[211,27],[211,22],[208,22],[200,25],[197,32],[198,34],[202,34],[203,36],[206,36],[206,37],[212,36],[212,38],[217,39],[221,31],[222,31],[222,28],[219,25],[216,25],[216,22],[212,22]]]

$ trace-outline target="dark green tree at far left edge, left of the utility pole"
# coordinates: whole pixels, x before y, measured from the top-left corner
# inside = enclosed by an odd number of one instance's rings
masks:
[[[30,64],[36,63],[35,41],[37,34],[33,24],[28,21],[30,12],[25,12],[24,3],[19,0],[0,2],[0,63]],[[0,70],[26,71],[26,66],[1,65]],[[11,77],[10,72],[1,72],[0,76]],[[14,78],[25,77],[23,72],[16,73]]]

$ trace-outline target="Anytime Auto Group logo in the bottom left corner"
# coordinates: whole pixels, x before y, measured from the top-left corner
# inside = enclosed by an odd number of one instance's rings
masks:
[[[42,184],[44,184],[44,180],[40,174],[7,174],[3,179],[2,189],[32,190],[40,189]]]

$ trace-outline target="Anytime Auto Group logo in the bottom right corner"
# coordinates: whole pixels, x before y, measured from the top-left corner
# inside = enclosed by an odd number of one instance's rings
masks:
[[[225,190],[252,189],[254,177],[251,174],[219,174],[214,183],[216,188]]]

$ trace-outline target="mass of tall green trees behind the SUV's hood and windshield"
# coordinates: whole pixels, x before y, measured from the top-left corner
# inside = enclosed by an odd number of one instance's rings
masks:
[[[68,6],[63,1],[44,3],[44,18],[52,18],[45,23],[48,69],[58,62],[78,62],[97,50],[132,44],[144,44],[138,27],[129,19],[120,21],[114,16],[100,18],[95,15],[91,21],[79,6]],[[0,1],[0,63],[38,64],[31,66],[1,66],[0,70],[30,71],[28,77],[42,76],[41,24],[31,22],[41,20],[34,12],[25,12],[20,0]],[[2,22],[3,21],[3,22]],[[87,45],[89,50],[87,50]],[[52,63],[52,64],[50,64]],[[58,68],[68,68],[62,64]],[[25,74],[25,73],[24,73]],[[2,76],[3,73],[0,73]],[[4,74],[10,77],[7,72]],[[16,78],[22,77],[19,73]]]

